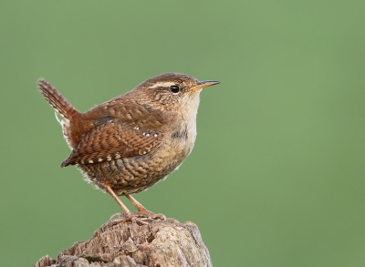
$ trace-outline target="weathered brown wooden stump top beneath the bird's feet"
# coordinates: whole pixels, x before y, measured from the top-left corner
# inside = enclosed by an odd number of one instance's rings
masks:
[[[191,221],[151,221],[149,225],[110,221],[89,241],[78,241],[57,260],[41,258],[35,267],[212,266],[198,227]]]

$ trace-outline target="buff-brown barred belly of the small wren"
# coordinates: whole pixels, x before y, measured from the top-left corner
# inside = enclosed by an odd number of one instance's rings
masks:
[[[78,165],[86,180],[100,190],[109,185],[117,195],[146,190],[179,167],[193,149],[193,142],[171,139],[152,153],[133,158]]]

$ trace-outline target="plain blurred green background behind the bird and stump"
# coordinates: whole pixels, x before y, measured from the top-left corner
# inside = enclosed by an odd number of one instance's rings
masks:
[[[176,71],[221,84],[203,90],[182,168],[136,198],[195,222],[214,266],[365,266],[364,10],[2,1],[1,264],[56,257],[120,211],[77,169],[59,168],[69,149],[37,78],[86,111]]]

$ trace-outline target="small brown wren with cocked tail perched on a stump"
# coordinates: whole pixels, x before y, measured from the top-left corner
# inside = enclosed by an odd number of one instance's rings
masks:
[[[120,218],[138,223],[146,223],[140,215],[165,219],[131,194],[149,189],[183,163],[196,138],[200,93],[216,84],[165,73],[81,113],[45,79],[38,80],[72,149],[61,167],[76,165],[85,180],[118,202],[124,211]],[[139,212],[131,213],[118,196],[126,196]]]

